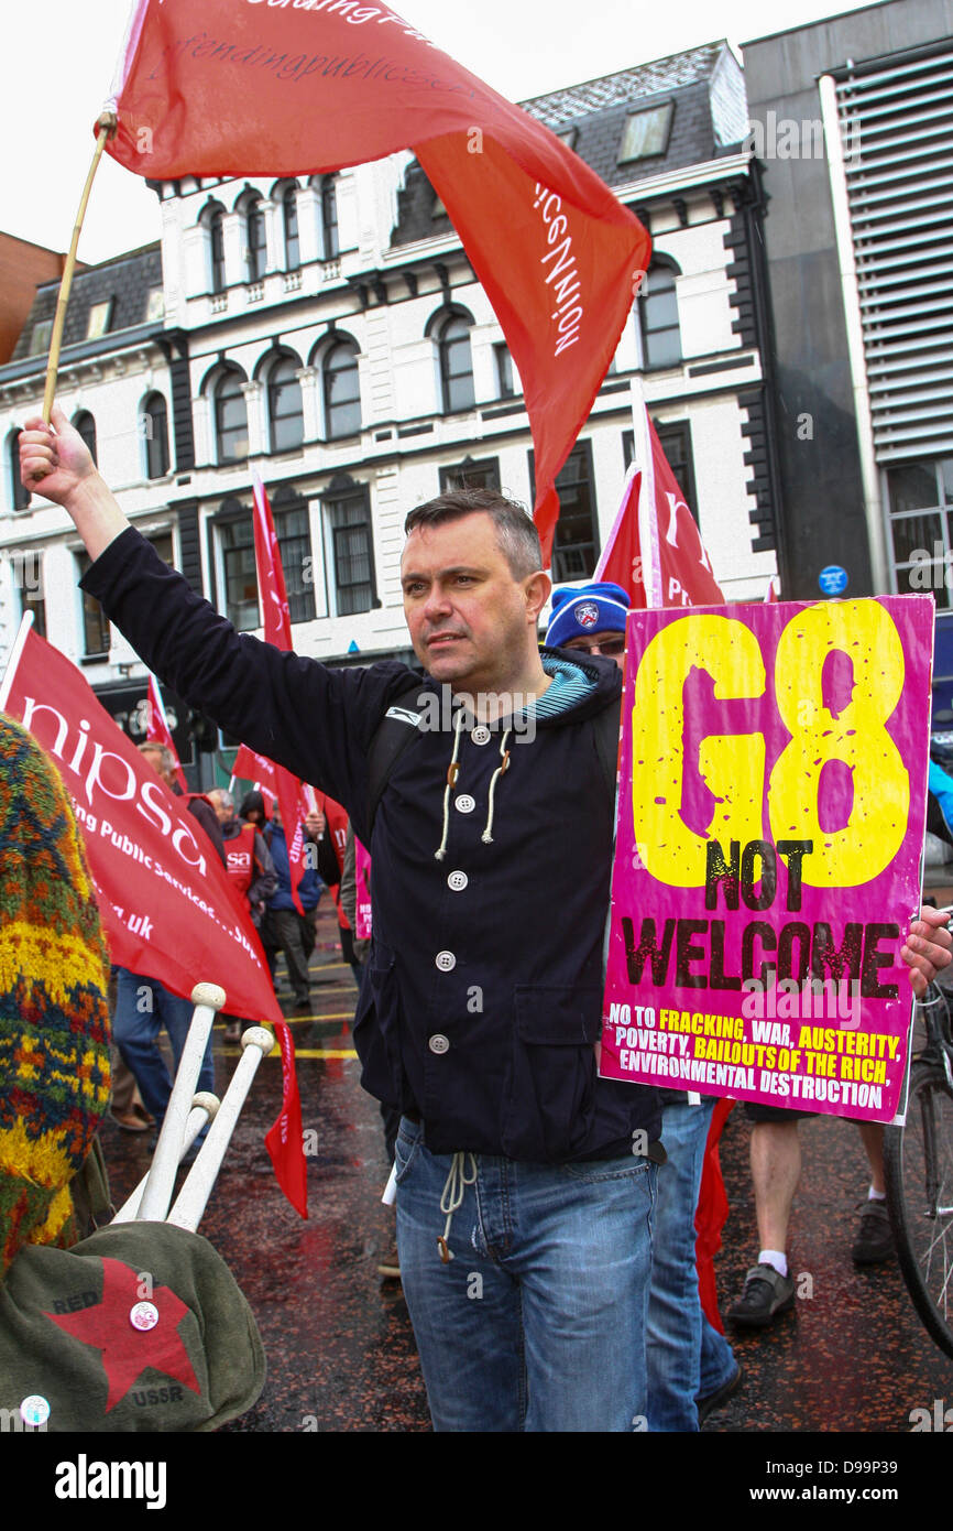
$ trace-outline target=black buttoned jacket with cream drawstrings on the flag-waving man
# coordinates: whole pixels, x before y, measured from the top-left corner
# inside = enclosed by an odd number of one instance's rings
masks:
[[[532,743],[511,736],[490,844],[500,733],[463,733],[437,860],[450,732],[415,732],[367,822],[369,746],[404,664],[332,671],[237,634],[132,528],[83,586],[179,697],[346,805],[373,857],[364,1084],[418,1112],[433,1153],[558,1162],[624,1153],[636,1128],[658,1139],[658,1092],[597,1079],[594,1056],[612,799],[592,720],[618,706],[612,661],[583,660],[595,694],[538,720]]]

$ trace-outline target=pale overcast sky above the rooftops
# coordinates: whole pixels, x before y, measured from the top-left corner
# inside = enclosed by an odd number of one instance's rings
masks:
[[[200,21],[203,0],[194,0]],[[405,0],[395,6],[511,101],[727,37],[740,51],[861,5],[832,0]],[[43,0],[3,8],[0,230],[66,250],[109,95],[130,0]],[[159,237],[154,194],[104,156],[80,259],[106,260]]]

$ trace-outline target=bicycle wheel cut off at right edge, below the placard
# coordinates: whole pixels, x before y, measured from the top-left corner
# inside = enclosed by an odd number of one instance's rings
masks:
[[[913,1064],[906,1127],[884,1131],[884,1170],[913,1306],[953,1356],[953,1093],[935,1064]]]

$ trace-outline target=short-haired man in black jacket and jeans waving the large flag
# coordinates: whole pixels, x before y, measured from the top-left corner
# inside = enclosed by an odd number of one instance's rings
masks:
[[[150,669],[330,793],[373,857],[355,1044],[366,1087],[404,1113],[401,1280],[434,1427],[630,1431],[664,1150],[656,1092],[600,1079],[594,1050],[613,830],[595,730],[621,675],[603,655],[540,652],[551,586],[531,519],[490,490],[408,514],[421,681],[239,635],[128,525],[61,410],[26,421],[20,459],[75,521],[83,588]],[[372,805],[372,747],[395,709],[408,743]],[[915,986],[950,960],[939,925],[912,923]]]

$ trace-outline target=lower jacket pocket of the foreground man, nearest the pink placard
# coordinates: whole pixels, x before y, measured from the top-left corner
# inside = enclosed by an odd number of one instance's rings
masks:
[[[564,1160],[583,1150],[595,1112],[601,989],[519,986],[503,1089],[503,1151]]]

